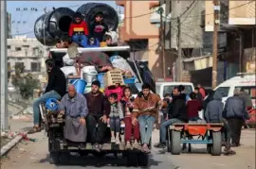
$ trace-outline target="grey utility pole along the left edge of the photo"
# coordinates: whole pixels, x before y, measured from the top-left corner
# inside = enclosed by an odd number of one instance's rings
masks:
[[[8,114],[8,69],[7,69],[7,1],[1,1],[1,21],[0,21],[0,41],[1,41],[1,129],[7,130],[9,129],[9,114]]]

